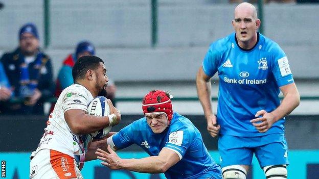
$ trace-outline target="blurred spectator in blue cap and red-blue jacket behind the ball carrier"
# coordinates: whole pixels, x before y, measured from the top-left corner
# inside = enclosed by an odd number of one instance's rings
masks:
[[[58,79],[56,82],[56,90],[55,90],[56,97],[59,97],[63,89],[73,84],[72,68],[75,62],[77,61],[77,59],[83,56],[94,56],[94,55],[95,55],[95,47],[93,43],[89,41],[81,41],[78,43],[75,53],[70,54],[63,61],[63,64],[59,71]],[[100,95],[110,99],[113,105],[115,105],[115,101],[114,101],[115,92],[116,92],[115,84],[109,81],[106,87],[105,93],[101,93]],[[51,107],[51,111],[53,110],[53,107],[54,105]]]

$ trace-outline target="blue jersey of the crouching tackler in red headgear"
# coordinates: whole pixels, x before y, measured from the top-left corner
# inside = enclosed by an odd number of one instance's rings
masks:
[[[113,135],[112,142],[118,149],[137,144],[150,156],[158,156],[162,148],[175,151],[180,161],[165,172],[167,178],[198,178],[216,171],[212,176],[221,175],[198,129],[178,113],[173,114],[170,126],[161,134],[154,134],[143,117]]]

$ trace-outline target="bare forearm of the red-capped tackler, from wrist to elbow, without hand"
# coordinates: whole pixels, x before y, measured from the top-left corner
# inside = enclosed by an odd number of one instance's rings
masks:
[[[121,159],[120,168],[143,173],[164,173],[167,169],[165,162],[158,156],[142,159]]]

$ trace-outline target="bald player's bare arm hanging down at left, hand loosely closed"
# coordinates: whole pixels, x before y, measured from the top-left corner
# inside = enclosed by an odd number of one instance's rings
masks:
[[[211,77],[204,73],[202,67],[197,72],[196,87],[197,95],[207,120],[207,130],[212,137],[216,137],[219,133],[220,125],[217,124],[217,118],[212,110]]]

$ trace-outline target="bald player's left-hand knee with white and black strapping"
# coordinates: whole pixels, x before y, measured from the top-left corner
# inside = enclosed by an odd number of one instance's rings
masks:
[[[246,169],[240,165],[223,167],[222,175],[224,179],[246,179]]]

